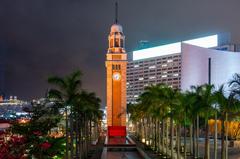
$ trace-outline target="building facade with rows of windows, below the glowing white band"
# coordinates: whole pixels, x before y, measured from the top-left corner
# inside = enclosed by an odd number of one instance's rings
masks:
[[[136,103],[144,88],[157,83],[180,87],[181,55],[171,54],[136,60],[127,66],[127,103]]]

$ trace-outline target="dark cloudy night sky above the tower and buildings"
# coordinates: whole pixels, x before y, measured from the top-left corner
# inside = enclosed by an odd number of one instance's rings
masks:
[[[5,71],[0,79],[5,93],[39,98],[49,87],[49,75],[80,69],[83,88],[95,91],[104,104],[104,60],[114,3],[1,0],[0,70]],[[222,32],[240,43],[239,7],[239,0],[119,0],[119,23],[129,52],[140,40],[157,45]]]

